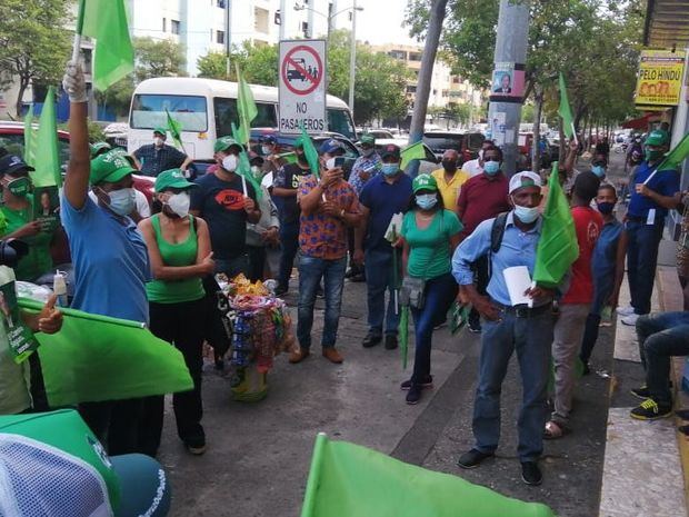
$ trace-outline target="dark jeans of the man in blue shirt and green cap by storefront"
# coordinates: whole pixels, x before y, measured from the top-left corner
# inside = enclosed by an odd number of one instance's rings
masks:
[[[657,220],[655,225],[646,221],[627,222],[627,279],[631,306],[638,315],[647,315],[651,311],[651,296],[653,295],[653,281],[656,279],[656,265],[658,262],[658,247],[662,238],[663,220]]]

